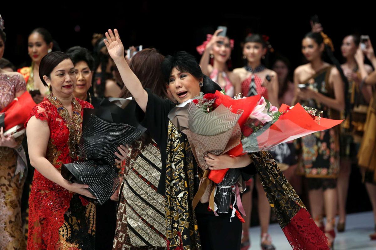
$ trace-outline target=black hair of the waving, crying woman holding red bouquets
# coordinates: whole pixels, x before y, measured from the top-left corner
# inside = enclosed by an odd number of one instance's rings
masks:
[[[201,92],[214,93],[215,90],[221,91],[221,87],[212,81],[208,76],[205,76],[200,64],[197,63],[196,58],[185,51],[179,51],[174,55],[167,55],[162,62],[162,74],[165,82],[168,84],[171,71],[176,68],[180,72],[187,72],[197,79],[203,78],[203,86]]]

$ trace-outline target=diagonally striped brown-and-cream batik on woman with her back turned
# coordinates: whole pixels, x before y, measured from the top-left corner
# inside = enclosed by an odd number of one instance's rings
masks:
[[[164,198],[157,193],[161,154],[152,139],[129,148],[120,190],[114,249],[162,250],[166,247]]]

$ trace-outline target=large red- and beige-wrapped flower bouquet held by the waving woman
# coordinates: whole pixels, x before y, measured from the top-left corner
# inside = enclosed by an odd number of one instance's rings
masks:
[[[208,171],[209,166],[203,160],[207,153],[227,153],[236,157],[245,153],[271,150],[283,142],[341,123],[321,118],[320,113],[316,115],[316,112],[311,108],[303,108],[299,103],[293,107],[282,105],[278,110],[259,95],[236,96],[232,99],[216,91],[214,94],[200,94],[197,99],[180,104],[171,110],[168,117],[187,135],[200,168]],[[228,169],[214,170],[203,175],[200,186],[203,185],[206,191],[199,190],[201,202],[208,202],[212,192],[221,195],[207,179],[219,184],[227,171]],[[224,190],[223,193],[229,193],[227,191]],[[197,199],[194,200],[194,205],[195,202]],[[218,204],[215,204],[215,208],[214,211],[218,208],[223,211]]]

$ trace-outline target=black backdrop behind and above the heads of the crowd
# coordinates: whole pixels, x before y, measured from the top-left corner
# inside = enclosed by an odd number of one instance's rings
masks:
[[[268,35],[274,50],[290,60],[293,72],[295,67],[305,63],[300,46],[302,37],[311,29],[309,20],[314,14],[319,16],[324,32],[331,37],[335,56],[341,62],[340,45],[347,34],[368,34],[376,45],[374,12],[365,2],[361,3],[359,7],[355,6],[356,2],[351,3],[353,6],[344,6],[343,2],[331,7],[303,1],[280,6],[269,2],[257,6],[252,1],[211,4],[182,1],[118,4],[108,1],[92,6],[92,3],[55,1],[48,6],[38,2],[1,6],[0,14],[5,20],[7,34],[4,57],[16,67],[30,65],[27,37],[37,27],[47,28],[63,51],[75,45],[92,50],[93,33],[117,28],[126,48],[130,45],[155,47],[164,55],[185,50],[199,60],[196,46],[206,39],[207,33],[214,33],[218,25],[225,25],[229,37],[235,39],[231,56],[233,67],[244,65],[240,43],[252,32]],[[353,166],[347,211],[366,210],[371,210],[371,205],[359,169]]]

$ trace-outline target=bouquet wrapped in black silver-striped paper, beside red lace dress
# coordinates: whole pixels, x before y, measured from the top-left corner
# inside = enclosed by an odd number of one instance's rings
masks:
[[[134,100],[115,99],[115,102],[117,104],[104,100],[99,109],[84,109],[80,161],[64,164],[61,169],[66,180],[88,184],[100,204],[106,202],[120,184],[118,169],[114,166],[117,147],[131,144],[146,130],[136,122]]]

